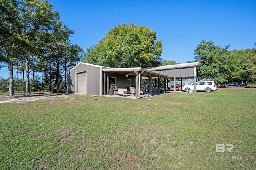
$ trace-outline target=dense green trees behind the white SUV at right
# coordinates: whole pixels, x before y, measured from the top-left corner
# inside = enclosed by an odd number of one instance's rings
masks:
[[[228,46],[218,47],[212,41],[200,42],[195,49],[195,61],[200,61],[200,79],[213,79],[218,83],[230,81],[255,81],[255,49],[228,51]]]

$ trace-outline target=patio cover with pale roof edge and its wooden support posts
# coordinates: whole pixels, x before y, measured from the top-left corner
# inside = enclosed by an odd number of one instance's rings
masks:
[[[138,89],[140,89],[142,87],[142,76],[143,77],[148,77],[149,83],[148,83],[148,93],[149,96],[152,96],[152,79],[157,78],[158,79],[158,94],[161,93],[160,91],[160,80],[164,79],[164,90],[163,93],[166,93],[166,81],[168,79],[168,75],[162,74],[162,73],[157,73],[154,71],[150,71],[150,70],[146,70],[146,69],[141,69],[140,67],[135,67],[135,68],[106,68],[103,69],[103,72],[105,73],[115,73],[115,74],[121,74],[121,75],[125,75],[126,77],[129,76],[133,76],[136,77],[136,98],[140,99],[141,96],[140,92],[138,91]]]

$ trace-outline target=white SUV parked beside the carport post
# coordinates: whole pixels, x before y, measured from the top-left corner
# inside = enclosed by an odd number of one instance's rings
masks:
[[[188,92],[189,90],[194,90],[194,83],[191,85],[184,85],[182,87],[183,91]],[[213,81],[199,81],[196,82],[196,91],[205,91],[205,92],[211,92],[212,90],[216,90],[217,86]]]

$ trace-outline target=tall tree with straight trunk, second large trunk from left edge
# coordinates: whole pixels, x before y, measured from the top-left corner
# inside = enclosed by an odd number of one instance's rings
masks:
[[[34,59],[42,32],[52,30],[58,24],[60,17],[53,11],[53,6],[48,1],[23,0],[20,2],[20,16],[22,18],[21,52],[26,63],[26,94],[30,94],[30,71],[34,70]]]

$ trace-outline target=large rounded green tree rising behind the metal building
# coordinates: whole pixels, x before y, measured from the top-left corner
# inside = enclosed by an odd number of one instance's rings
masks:
[[[85,60],[106,67],[153,67],[161,64],[162,41],[145,26],[118,25],[96,47],[87,49]]]

